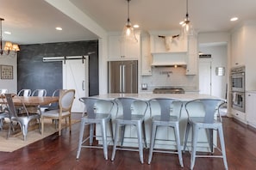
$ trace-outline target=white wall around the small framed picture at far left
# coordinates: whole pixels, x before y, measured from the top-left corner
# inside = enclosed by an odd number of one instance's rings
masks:
[[[12,65],[13,66],[13,79],[1,79],[0,77],[0,88],[7,88],[9,93],[17,93],[17,58],[11,56],[0,56],[1,65]]]

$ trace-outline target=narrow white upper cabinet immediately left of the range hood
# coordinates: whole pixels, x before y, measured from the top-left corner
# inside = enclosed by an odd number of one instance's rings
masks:
[[[149,36],[141,35],[141,76],[152,76],[152,56],[150,54]]]

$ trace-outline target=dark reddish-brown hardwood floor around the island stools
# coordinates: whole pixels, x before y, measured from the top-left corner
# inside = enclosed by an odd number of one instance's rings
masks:
[[[256,168],[256,134],[232,118],[223,118],[228,168],[234,170]],[[139,154],[131,151],[117,151],[115,161],[105,161],[102,149],[82,149],[76,160],[79,123],[68,130],[58,132],[43,140],[12,153],[0,152],[0,169],[190,169],[190,155],[184,153],[184,168],[178,163],[178,155],[153,154],[151,165],[140,164]],[[111,156],[109,147],[109,158]],[[222,159],[197,158],[195,170],[224,169]]]

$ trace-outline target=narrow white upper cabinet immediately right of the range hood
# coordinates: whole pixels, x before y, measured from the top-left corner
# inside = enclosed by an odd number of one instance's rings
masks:
[[[188,37],[187,69],[186,75],[197,75],[197,37],[191,35]]]

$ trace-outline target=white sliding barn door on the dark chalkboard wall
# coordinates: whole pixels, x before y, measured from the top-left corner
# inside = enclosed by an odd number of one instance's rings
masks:
[[[72,112],[83,112],[84,104],[79,101],[81,97],[87,97],[89,92],[88,59],[69,59],[63,61],[63,88],[75,89],[76,96],[72,106]]]

